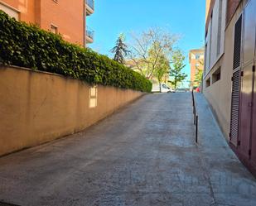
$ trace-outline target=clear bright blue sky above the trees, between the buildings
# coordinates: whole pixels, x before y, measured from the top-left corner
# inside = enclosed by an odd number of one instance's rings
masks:
[[[179,34],[177,46],[186,55],[184,71],[189,79],[188,51],[204,42],[205,0],[95,0],[94,14],[86,21],[95,32],[89,47],[109,56],[120,33],[128,36],[159,26]]]

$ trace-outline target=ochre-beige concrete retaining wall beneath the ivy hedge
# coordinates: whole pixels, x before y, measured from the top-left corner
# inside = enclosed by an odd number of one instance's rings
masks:
[[[80,132],[143,94],[101,85],[94,93],[79,80],[15,67],[0,67],[0,76],[0,156]]]

